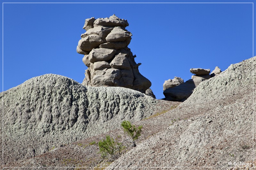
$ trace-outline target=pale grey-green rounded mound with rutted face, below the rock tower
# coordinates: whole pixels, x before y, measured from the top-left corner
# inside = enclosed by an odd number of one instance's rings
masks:
[[[4,164],[107,132],[124,119],[139,121],[152,115],[158,102],[135,90],[86,87],[54,74],[31,78],[2,92],[2,98]]]

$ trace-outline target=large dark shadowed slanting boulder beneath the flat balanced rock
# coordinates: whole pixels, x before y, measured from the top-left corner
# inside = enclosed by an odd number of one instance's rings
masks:
[[[199,76],[194,76],[184,84],[175,86],[173,88],[168,88],[164,90],[165,99],[171,101],[185,101],[193,93],[194,89],[204,80],[206,79]]]

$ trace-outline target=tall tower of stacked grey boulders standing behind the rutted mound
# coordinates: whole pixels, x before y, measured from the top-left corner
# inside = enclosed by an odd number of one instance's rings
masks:
[[[109,18],[85,20],[86,32],[76,48],[83,54],[85,70],[83,85],[120,86],[145,93],[151,82],[142,76],[130,48],[132,33],[125,29],[127,20],[114,14]]]

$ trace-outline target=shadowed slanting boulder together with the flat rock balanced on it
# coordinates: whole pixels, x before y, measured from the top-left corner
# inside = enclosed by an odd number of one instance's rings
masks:
[[[202,81],[211,78],[211,76],[209,75],[210,69],[192,68],[190,69],[190,72],[196,75],[193,75],[191,79],[186,81],[184,84],[175,86],[173,88],[167,88],[164,90],[164,96],[166,100],[184,101],[188,99],[188,97],[193,93],[194,89]]]

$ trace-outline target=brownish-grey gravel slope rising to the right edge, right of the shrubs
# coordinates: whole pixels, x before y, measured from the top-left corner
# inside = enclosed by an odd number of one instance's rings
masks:
[[[228,169],[235,162],[252,160],[255,60],[231,64],[219,76],[202,82],[179,109],[173,110],[172,114],[180,114],[180,121],[170,120],[167,129],[106,169]],[[187,113],[188,119],[184,117]]]

